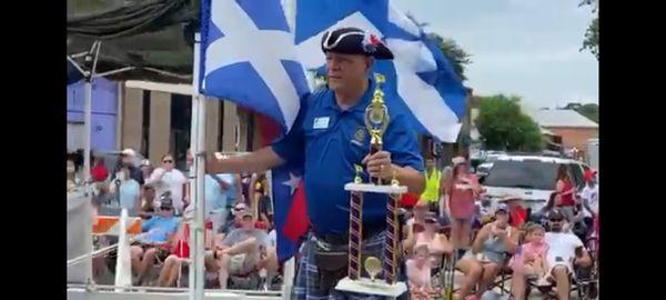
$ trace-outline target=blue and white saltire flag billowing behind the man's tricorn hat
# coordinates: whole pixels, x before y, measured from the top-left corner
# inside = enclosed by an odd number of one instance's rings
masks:
[[[330,29],[357,27],[382,37],[395,59],[376,61],[386,77],[384,92],[402,101],[390,110],[411,112],[420,132],[455,142],[465,112],[466,91],[436,44],[389,0],[317,0],[296,2],[295,43],[306,69],[325,63],[321,38]]]

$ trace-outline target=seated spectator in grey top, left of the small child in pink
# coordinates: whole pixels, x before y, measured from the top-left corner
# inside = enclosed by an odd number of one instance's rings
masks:
[[[478,231],[471,251],[458,260],[456,268],[465,273],[461,289],[453,299],[465,299],[477,284],[476,297],[487,290],[504,264],[506,254],[512,254],[518,242],[518,230],[508,224],[508,207],[504,203],[495,208],[495,220]]]

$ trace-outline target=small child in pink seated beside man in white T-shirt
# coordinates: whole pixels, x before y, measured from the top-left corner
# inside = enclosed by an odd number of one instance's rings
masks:
[[[525,243],[519,247],[519,253],[516,250],[516,254],[509,261],[515,274],[539,279],[539,286],[544,284],[546,270],[549,269],[546,261],[548,244],[544,242],[545,233],[546,230],[541,224],[528,226]]]

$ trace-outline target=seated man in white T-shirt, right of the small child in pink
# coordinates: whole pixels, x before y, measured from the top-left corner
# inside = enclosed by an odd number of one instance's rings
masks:
[[[548,244],[546,279],[555,283],[558,299],[569,299],[571,274],[574,272],[574,266],[585,271],[582,273],[586,273],[592,264],[581,239],[572,232],[564,231],[564,221],[565,214],[562,211],[558,209],[551,211],[548,214],[549,231],[544,237],[545,243]],[[512,283],[514,298],[524,299],[525,277],[514,276]]]

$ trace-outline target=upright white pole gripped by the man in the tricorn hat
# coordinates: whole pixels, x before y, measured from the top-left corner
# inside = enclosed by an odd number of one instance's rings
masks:
[[[204,209],[203,178],[205,176],[204,160],[201,154],[205,144],[205,99],[199,93],[199,62],[200,62],[200,33],[194,33],[194,66],[192,70],[192,137],[190,137],[190,150],[194,156],[191,174],[194,176],[194,189],[190,189],[190,206],[194,206],[194,221],[190,223],[190,300],[203,300],[204,298]],[[193,196],[193,197],[192,197]]]

